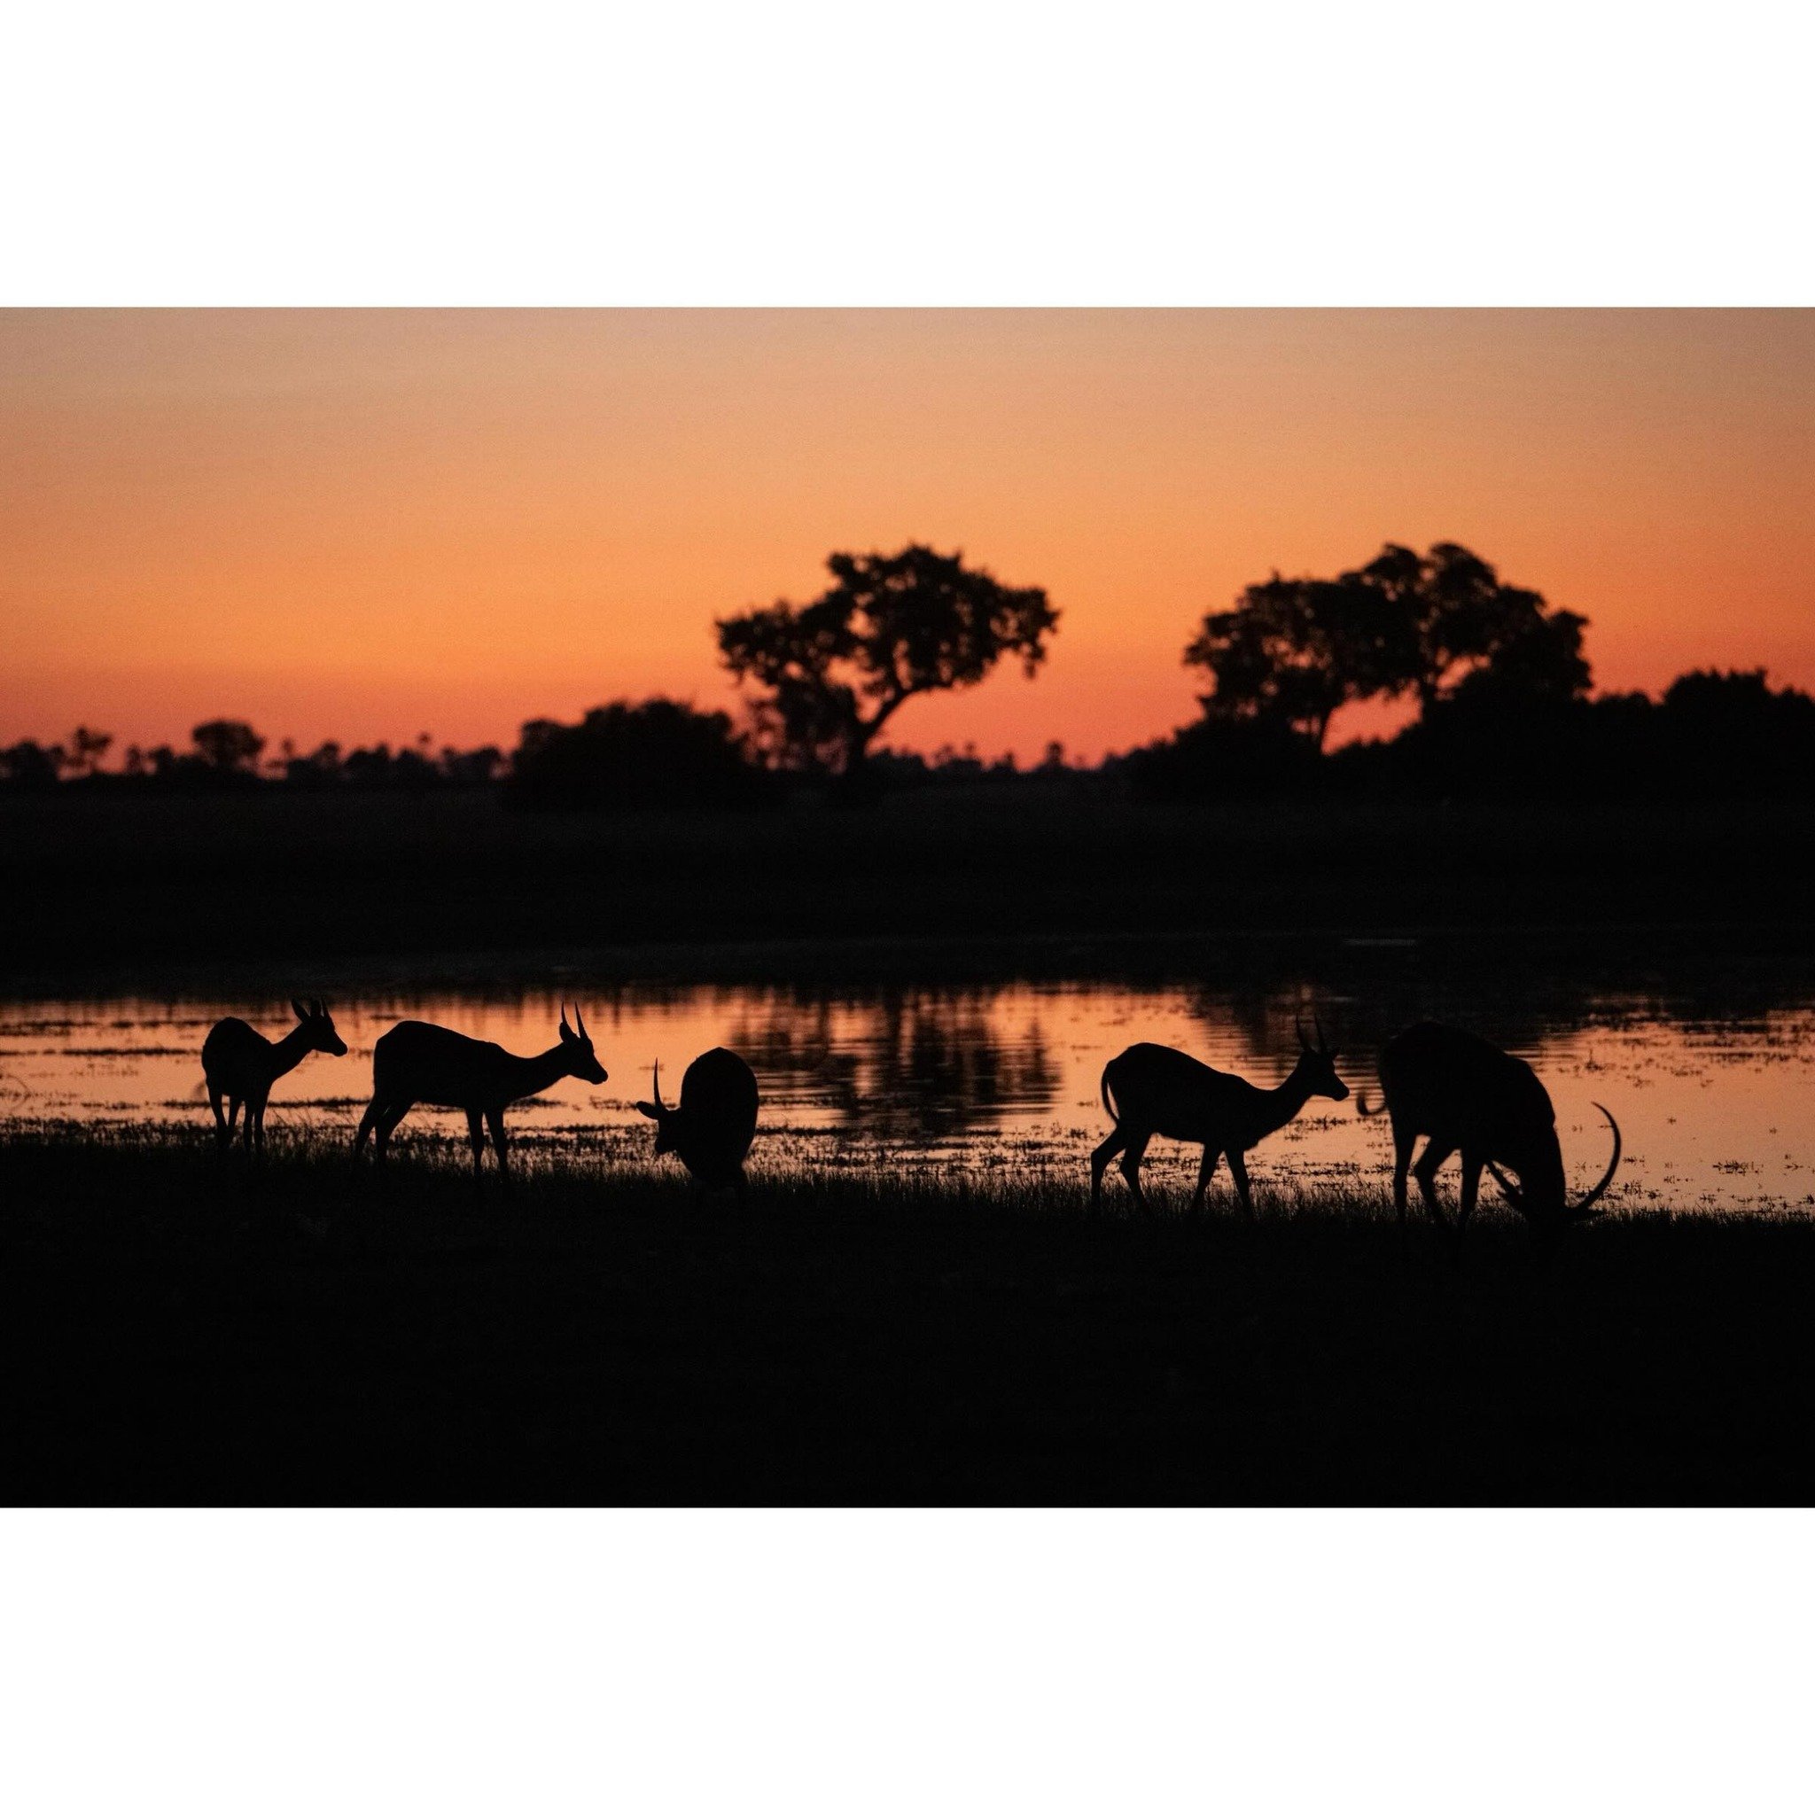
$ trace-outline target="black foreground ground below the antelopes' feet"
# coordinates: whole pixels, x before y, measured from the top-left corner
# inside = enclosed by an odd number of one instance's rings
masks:
[[[476,1200],[307,1142],[0,1138],[7,1499],[1808,1501],[1815,1223],[1608,1218],[1548,1276],[1378,1203],[544,1158]],[[490,1182],[488,1182],[490,1183]]]

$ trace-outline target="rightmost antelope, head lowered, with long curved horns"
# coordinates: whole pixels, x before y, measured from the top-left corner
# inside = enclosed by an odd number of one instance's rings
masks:
[[[1481,1189],[1481,1169],[1506,1194],[1506,1202],[1532,1225],[1548,1247],[1568,1223],[1601,1212],[1594,1207],[1619,1169],[1619,1123],[1601,1104],[1614,1131],[1614,1158],[1601,1183],[1575,1203],[1563,1180],[1563,1149],[1557,1145],[1557,1113],[1537,1073],[1479,1035],[1437,1022],[1419,1022],[1394,1035],[1379,1049],[1379,1087],[1392,1116],[1392,1205],[1405,1229],[1405,1178],[1418,1180],[1430,1214],[1450,1227],[1437,1202],[1437,1167],[1450,1154],[1463,1160],[1461,1196],[1456,1202],[1456,1234],[1468,1223]],[[1379,1109],[1356,1098],[1365,1116]],[[1425,1151],[1412,1165],[1412,1145],[1425,1134]],[[1505,1167],[1505,1171],[1501,1171]],[[1517,1174],[1517,1183],[1506,1178]]]

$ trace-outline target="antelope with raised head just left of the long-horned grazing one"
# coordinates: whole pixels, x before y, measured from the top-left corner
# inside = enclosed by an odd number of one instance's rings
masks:
[[[1285,1084],[1263,1091],[1245,1078],[1214,1071],[1171,1045],[1142,1042],[1118,1053],[1104,1065],[1104,1109],[1116,1118],[1116,1127],[1091,1154],[1091,1209],[1102,1203],[1104,1172],[1120,1153],[1122,1176],[1129,1182],[1134,1202],[1147,1211],[1140,1189],[1140,1162],[1147,1153],[1147,1142],[1154,1134],[1165,1134],[1169,1140],[1203,1142],[1198,1189],[1191,1194],[1192,1211],[1203,1209],[1203,1194],[1211,1187],[1216,1162],[1221,1154],[1229,1154],[1236,1196],[1241,1200],[1241,1209],[1252,1216],[1249,1147],[1283,1129],[1312,1096],[1332,1096],[1341,1102],[1349,1094],[1349,1085],[1336,1076],[1338,1056],[1325,1044],[1321,1025],[1316,1045],[1300,1027],[1298,1064],[1292,1065]]]

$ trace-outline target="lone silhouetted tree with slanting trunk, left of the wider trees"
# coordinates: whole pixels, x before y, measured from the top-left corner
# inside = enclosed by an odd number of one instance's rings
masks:
[[[782,768],[846,775],[917,693],[975,686],[1004,655],[1029,675],[1058,612],[1038,586],[1002,586],[962,554],[918,543],[893,555],[835,554],[811,604],[719,619],[719,652],[755,704],[760,748]]]

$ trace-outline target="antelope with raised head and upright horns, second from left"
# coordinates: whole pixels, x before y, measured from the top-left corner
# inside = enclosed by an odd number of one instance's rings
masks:
[[[472,1142],[472,1176],[479,1178],[485,1158],[485,1131],[492,1131],[497,1169],[508,1178],[505,1160],[505,1109],[546,1091],[557,1078],[584,1078],[604,1084],[604,1065],[594,1056],[586,1020],[574,1007],[574,1027],[561,1011],[561,1038],[534,1058],[519,1058],[490,1040],[472,1040],[452,1027],[430,1022],[397,1022],[379,1035],[372,1047],[372,1102],[359,1120],[352,1156],[358,1163],[365,1138],[378,1133],[378,1158],[390,1147],[390,1133],[416,1107],[465,1109],[466,1138]],[[483,1123],[483,1125],[481,1125]]]

